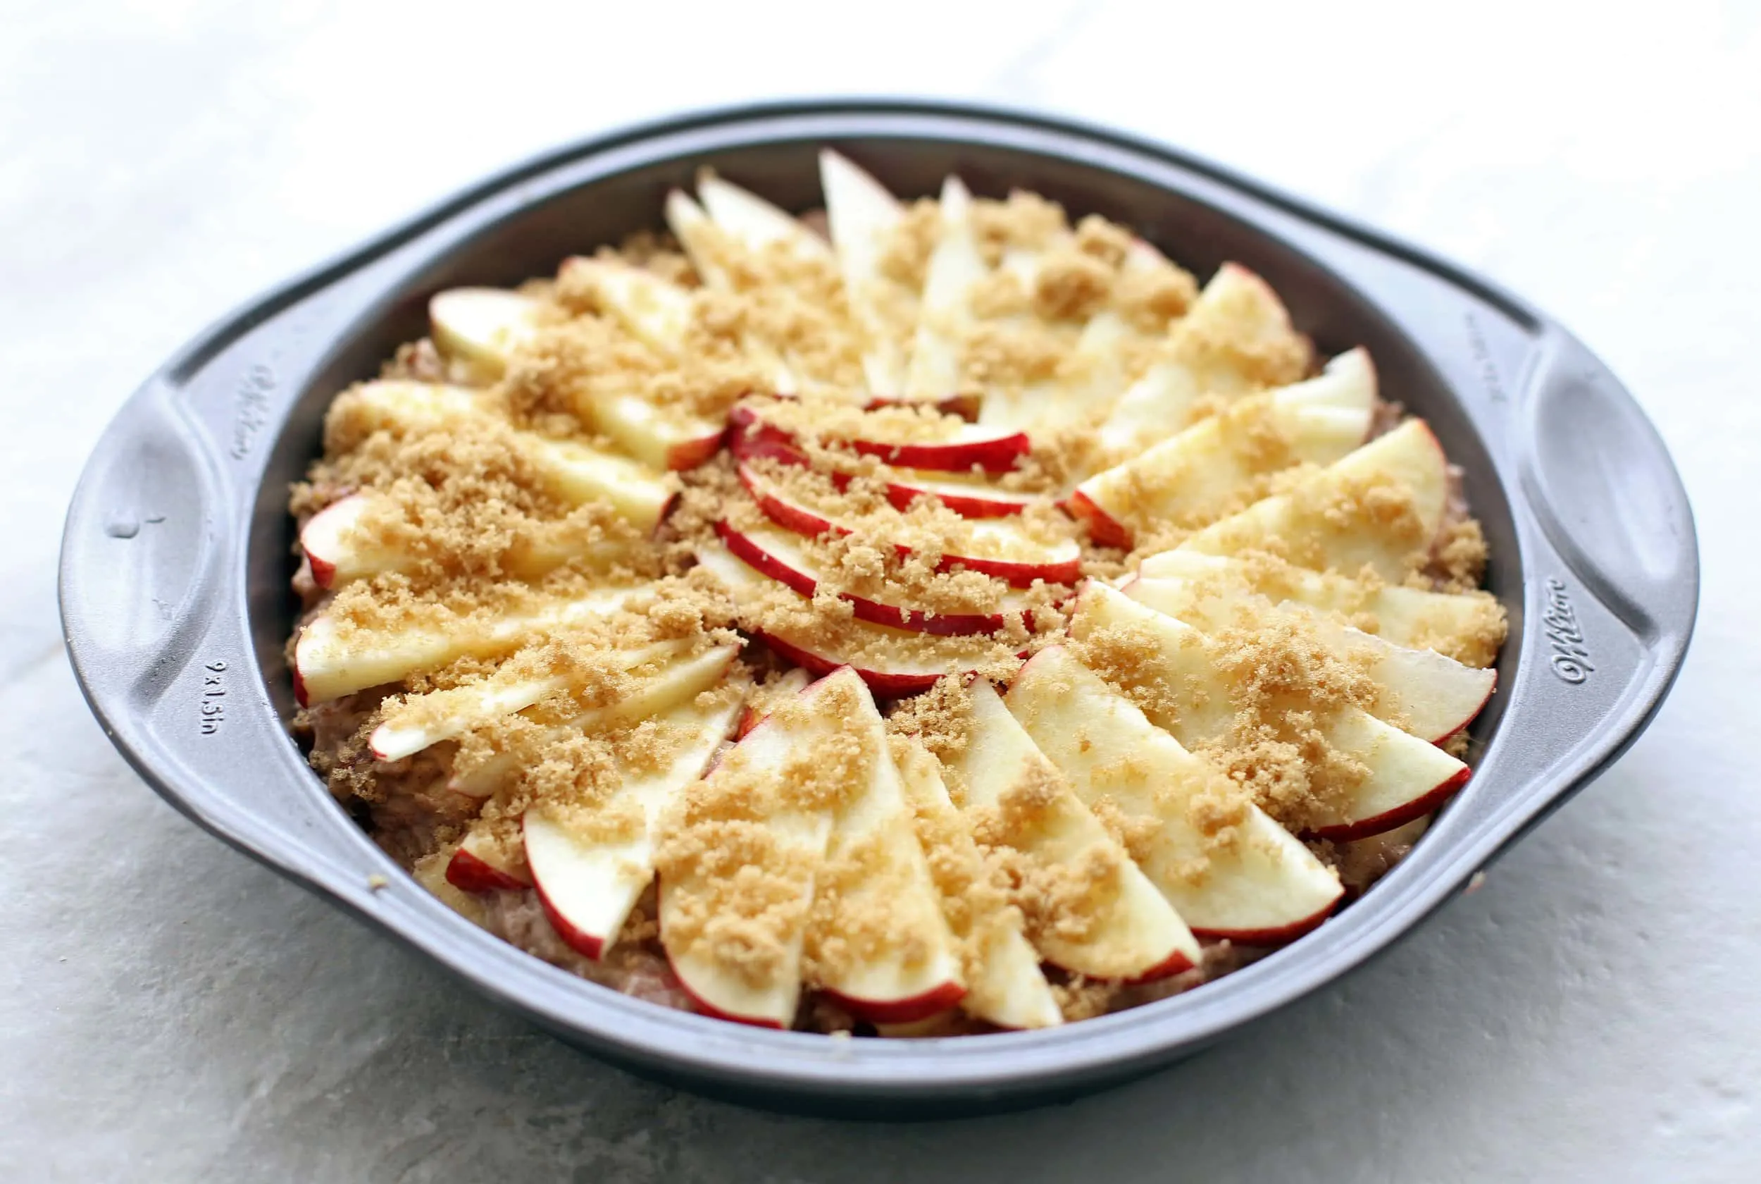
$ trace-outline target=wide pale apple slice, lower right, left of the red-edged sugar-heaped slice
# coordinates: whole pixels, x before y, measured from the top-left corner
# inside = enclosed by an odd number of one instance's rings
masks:
[[[1344,895],[1338,876],[1243,800],[1242,788],[1062,645],[1028,659],[1004,703],[1076,796],[1145,828],[1138,865],[1194,934],[1291,941]]]

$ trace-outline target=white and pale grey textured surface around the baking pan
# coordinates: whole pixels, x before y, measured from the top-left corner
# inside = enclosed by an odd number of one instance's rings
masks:
[[[1761,5],[1176,7],[0,4],[0,1173],[1761,1179]],[[490,169],[815,92],[1148,132],[1564,319],[1654,416],[1699,522],[1699,634],[1650,733],[1349,981],[1139,1085],[916,1128],[602,1068],[143,788],[53,599],[62,513],[125,395],[238,301]]]

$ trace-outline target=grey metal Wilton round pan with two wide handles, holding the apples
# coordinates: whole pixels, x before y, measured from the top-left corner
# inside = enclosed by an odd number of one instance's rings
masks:
[[[710,166],[801,210],[831,144],[903,196],[960,173],[1136,227],[1201,278],[1264,275],[1323,354],[1367,345],[1384,391],[1465,472],[1509,610],[1474,777],[1412,855],[1314,934],[1194,992],[1041,1032],[828,1040],[618,995],[423,892],[289,738],[296,603],[287,483],[329,398],[426,329],[456,284],[548,275],[655,227]],[[62,546],[67,648],[106,733],[234,847],[446,966],[556,1036],[722,1098],[863,1117],[1034,1105],[1164,1066],[1384,950],[1639,735],[1687,648],[1699,562],[1687,495],[1620,382],[1495,285],[1160,144],[1035,115],[828,100],[602,136],[491,178],[254,301],[155,374],[109,426]]]

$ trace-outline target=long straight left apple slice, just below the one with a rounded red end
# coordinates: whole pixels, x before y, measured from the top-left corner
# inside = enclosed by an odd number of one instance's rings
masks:
[[[333,606],[308,620],[294,641],[294,698],[310,707],[461,657],[498,657],[535,633],[611,615],[650,587],[593,588],[574,597],[521,590],[518,603],[493,613],[435,604],[384,622],[356,620]]]

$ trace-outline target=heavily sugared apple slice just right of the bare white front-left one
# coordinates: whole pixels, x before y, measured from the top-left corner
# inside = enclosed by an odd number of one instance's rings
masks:
[[[884,758],[868,687],[840,670],[778,705],[667,812],[660,941],[701,1011],[791,1025],[833,816]]]

